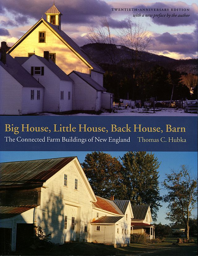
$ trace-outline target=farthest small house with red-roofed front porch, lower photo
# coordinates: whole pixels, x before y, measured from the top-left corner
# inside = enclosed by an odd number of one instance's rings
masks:
[[[151,210],[149,205],[131,205],[133,219],[131,220],[131,234],[147,234],[148,239],[155,238],[155,229],[152,224]]]

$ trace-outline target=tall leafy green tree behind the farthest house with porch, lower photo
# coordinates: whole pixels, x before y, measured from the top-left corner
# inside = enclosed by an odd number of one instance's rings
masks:
[[[154,154],[147,152],[127,152],[121,160],[123,184],[127,188],[125,199],[135,205],[150,205],[153,221],[156,221],[162,199],[157,171],[160,162]]]

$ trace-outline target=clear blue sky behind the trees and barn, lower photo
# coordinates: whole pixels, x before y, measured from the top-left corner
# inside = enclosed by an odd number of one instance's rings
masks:
[[[90,152],[1,152],[0,161],[25,161],[25,160],[34,160],[34,159],[46,159],[46,158],[56,158],[56,157],[68,157],[68,156],[77,156],[80,163],[84,161],[84,158],[87,153]],[[125,152],[106,152],[113,157],[122,157]],[[165,174],[170,173],[172,170],[179,170],[181,165],[186,165],[189,167],[192,176],[197,176],[197,152],[152,152],[155,157],[158,158],[158,161],[161,162],[161,165],[158,169],[159,171],[159,182],[161,183],[165,179]],[[160,193],[164,195],[166,190],[161,187],[160,184]],[[162,203],[162,207],[158,212],[157,223],[161,222],[162,224],[168,224],[169,221],[165,219],[167,212],[167,204]],[[195,209],[192,215],[197,216],[197,209]]]

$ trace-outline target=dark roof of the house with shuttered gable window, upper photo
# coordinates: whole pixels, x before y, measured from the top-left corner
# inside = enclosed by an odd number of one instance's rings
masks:
[[[24,64],[28,59],[37,57],[43,64],[45,64],[57,77],[59,77],[61,80],[65,81],[70,81],[73,82],[73,80],[65,73],[62,71],[61,68],[59,68],[52,60],[46,60],[43,57],[37,56],[37,55],[32,55],[30,57],[15,57],[15,60],[19,62],[19,64]]]

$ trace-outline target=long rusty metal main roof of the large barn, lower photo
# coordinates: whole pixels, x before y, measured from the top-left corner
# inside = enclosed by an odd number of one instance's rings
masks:
[[[1,186],[43,184],[75,157],[6,162],[0,164]]]

